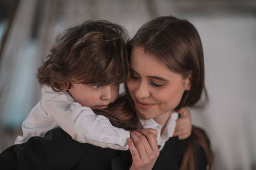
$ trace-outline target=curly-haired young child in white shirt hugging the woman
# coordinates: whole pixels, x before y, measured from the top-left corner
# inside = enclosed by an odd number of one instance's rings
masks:
[[[129,132],[92,111],[113,103],[129,76],[125,43],[122,27],[107,21],[67,29],[38,69],[42,100],[24,120],[15,144],[61,127],[81,143],[127,150]]]

